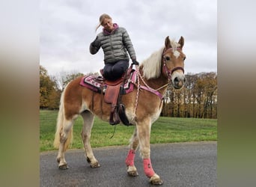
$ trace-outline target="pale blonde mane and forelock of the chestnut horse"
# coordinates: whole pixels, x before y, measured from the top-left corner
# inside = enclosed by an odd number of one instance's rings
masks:
[[[179,46],[180,46],[180,43],[177,43],[174,40],[171,40],[171,48],[173,52],[177,52],[177,47]],[[153,52],[149,58],[141,62],[143,76],[145,79],[147,80],[156,79],[160,76],[163,50],[164,50],[164,47],[162,47],[156,52]],[[178,53],[177,55],[180,55],[179,52],[177,53]]]

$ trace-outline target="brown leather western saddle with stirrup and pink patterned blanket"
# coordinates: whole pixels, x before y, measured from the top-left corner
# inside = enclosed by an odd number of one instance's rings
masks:
[[[116,125],[120,122],[124,125],[132,125],[129,123],[125,114],[125,106],[121,103],[121,95],[130,93],[133,91],[136,75],[132,66],[128,68],[124,75],[115,81],[109,81],[102,76],[84,76],[80,81],[80,85],[91,89],[91,91],[97,93],[103,93],[104,101],[111,105],[111,112],[109,117],[109,123]]]

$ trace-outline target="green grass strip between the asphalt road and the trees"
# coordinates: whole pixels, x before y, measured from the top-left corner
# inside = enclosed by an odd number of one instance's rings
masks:
[[[40,111],[40,151],[54,150],[52,142],[58,111]],[[73,126],[73,149],[83,147],[81,131],[82,117]],[[117,125],[113,138],[114,126],[103,122],[97,117],[91,132],[91,146],[105,147],[127,145],[135,126]],[[177,117],[159,117],[151,128],[150,144],[186,142],[186,141],[216,141],[217,120]]]

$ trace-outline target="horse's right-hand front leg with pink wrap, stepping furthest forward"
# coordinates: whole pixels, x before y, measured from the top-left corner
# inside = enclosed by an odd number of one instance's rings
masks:
[[[138,143],[143,159],[144,174],[150,178],[150,183],[153,185],[162,185],[162,180],[159,175],[153,171],[150,160],[150,129],[150,120],[143,120],[143,122],[137,123]]]

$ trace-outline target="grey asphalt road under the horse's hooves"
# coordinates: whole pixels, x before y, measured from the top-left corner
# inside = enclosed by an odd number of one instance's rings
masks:
[[[175,144],[151,144],[153,169],[163,180],[162,186],[216,186],[216,141]],[[138,151],[135,166],[138,177],[129,177],[125,158],[129,148],[94,148],[100,168],[91,168],[84,150],[67,150],[69,169],[61,171],[57,151],[40,153],[40,186],[152,186],[144,175]]]

